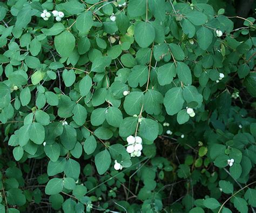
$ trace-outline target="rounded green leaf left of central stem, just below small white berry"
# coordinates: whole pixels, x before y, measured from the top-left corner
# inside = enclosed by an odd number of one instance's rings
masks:
[[[143,105],[143,92],[131,92],[125,97],[124,110],[129,115],[139,114]]]

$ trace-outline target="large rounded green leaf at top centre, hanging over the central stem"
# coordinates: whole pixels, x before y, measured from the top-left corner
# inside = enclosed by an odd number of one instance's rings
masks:
[[[140,22],[135,26],[134,39],[140,47],[148,47],[155,37],[156,32],[150,22]]]

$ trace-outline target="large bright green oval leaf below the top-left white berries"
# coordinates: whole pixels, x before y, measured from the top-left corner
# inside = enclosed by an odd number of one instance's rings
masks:
[[[71,54],[75,48],[75,42],[75,37],[69,31],[64,31],[54,38],[55,48],[62,57],[68,57]]]

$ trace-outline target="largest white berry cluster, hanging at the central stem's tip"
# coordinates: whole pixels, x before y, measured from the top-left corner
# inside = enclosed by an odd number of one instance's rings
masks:
[[[126,147],[127,153],[130,153],[131,157],[139,157],[142,155],[142,138],[140,136],[133,137],[132,135],[126,138],[128,146]]]

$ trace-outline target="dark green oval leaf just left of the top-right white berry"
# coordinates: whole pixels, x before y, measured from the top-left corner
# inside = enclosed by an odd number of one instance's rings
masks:
[[[198,44],[202,50],[207,50],[212,43],[213,34],[211,30],[201,26],[197,31]]]

